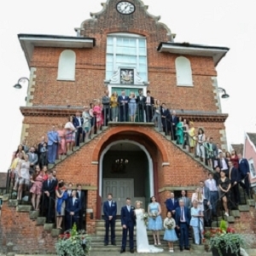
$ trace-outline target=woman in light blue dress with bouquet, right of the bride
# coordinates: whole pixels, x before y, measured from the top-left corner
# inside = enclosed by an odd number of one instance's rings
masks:
[[[162,230],[163,222],[161,218],[160,203],[155,200],[155,197],[150,198],[148,205],[148,230],[153,230],[154,245],[160,245],[160,230]]]

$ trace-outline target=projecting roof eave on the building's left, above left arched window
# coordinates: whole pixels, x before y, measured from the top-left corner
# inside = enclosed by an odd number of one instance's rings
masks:
[[[93,48],[96,45],[95,38],[41,34],[19,34],[18,38],[28,65],[32,59],[34,47]]]

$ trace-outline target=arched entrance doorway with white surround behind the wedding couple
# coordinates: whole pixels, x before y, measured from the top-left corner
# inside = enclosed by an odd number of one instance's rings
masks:
[[[127,160],[121,168],[116,164],[120,159]],[[148,205],[149,197],[154,195],[154,165],[142,144],[131,140],[114,141],[102,151],[99,165],[99,196],[104,201],[108,193],[112,193],[118,215],[127,196],[133,203],[139,200],[144,207]]]

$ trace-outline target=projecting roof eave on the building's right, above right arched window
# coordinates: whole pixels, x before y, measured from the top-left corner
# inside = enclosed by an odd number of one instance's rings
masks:
[[[212,57],[214,66],[226,55],[230,50],[227,47],[203,45],[203,44],[189,44],[189,43],[173,43],[161,42],[157,49],[159,52],[169,52],[177,55],[195,55]]]

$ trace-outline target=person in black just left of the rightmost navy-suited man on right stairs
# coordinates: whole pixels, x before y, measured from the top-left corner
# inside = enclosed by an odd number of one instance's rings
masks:
[[[231,203],[233,207],[237,207],[241,200],[240,200],[240,191],[238,184],[241,181],[240,175],[238,170],[233,166],[233,163],[231,160],[229,160],[229,167],[230,167],[230,172],[229,172],[229,178],[231,181]]]

